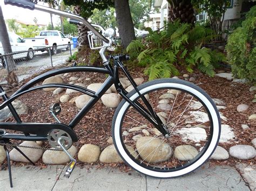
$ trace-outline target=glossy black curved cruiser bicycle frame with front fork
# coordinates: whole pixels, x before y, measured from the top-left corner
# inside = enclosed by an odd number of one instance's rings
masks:
[[[118,56],[117,56],[118,58]],[[146,105],[146,108],[143,107],[140,103],[137,101],[131,101],[129,97],[127,97],[127,92],[123,88],[122,84],[119,81],[119,76],[118,76],[118,68],[121,68],[124,72],[124,74],[127,76],[127,78],[130,80],[132,86],[134,89],[137,91],[139,96],[142,98],[143,102]],[[45,79],[48,79],[51,76],[55,76],[58,74],[64,74],[64,73],[71,73],[71,72],[96,72],[96,73],[103,73],[103,74],[108,74],[109,76],[103,83],[102,87],[99,88],[97,92],[89,90],[87,88],[83,88],[80,86],[76,86],[74,84],[64,84],[64,83],[52,83],[52,84],[44,84],[44,85],[39,85],[33,87],[35,84],[38,82],[41,82]],[[29,93],[30,91],[33,90],[38,90],[38,89],[43,89],[43,88],[51,88],[51,87],[61,87],[61,88],[67,88],[67,89],[73,89],[77,90],[83,94],[91,96],[91,99],[89,102],[87,102],[84,107],[78,112],[78,114],[75,116],[75,118],[72,119],[72,121],[69,123],[69,125],[65,125],[67,128],[70,130],[75,128],[75,126],[79,123],[79,121],[87,114],[87,112],[93,107],[93,105],[102,97],[102,95],[109,89],[112,84],[116,87],[118,93],[126,100],[129,102],[132,107],[134,107],[140,114],[142,114],[148,121],[150,121],[156,128],[162,132],[165,133],[164,135],[167,134],[166,130],[164,129],[164,125],[160,121],[159,117],[156,115],[156,113],[153,111],[151,108],[151,105],[149,102],[146,100],[146,98],[139,93],[139,90],[137,89],[136,83],[133,81],[131,75],[129,72],[127,72],[126,68],[123,66],[123,63],[119,61],[119,59],[114,60],[114,67],[110,65],[110,61],[107,61],[105,63],[105,68],[103,67],[91,67],[91,66],[76,66],[76,67],[66,67],[66,68],[60,68],[60,69],[55,69],[50,72],[46,72],[44,74],[41,74],[35,79],[32,79],[28,83],[26,83],[23,87],[21,87],[19,90],[16,91],[11,97],[7,97],[5,94],[2,95],[4,102],[0,105],[0,110],[3,109],[4,107],[8,106],[12,115],[16,119],[17,123],[0,123],[1,128],[4,129],[11,129],[11,130],[16,130],[16,131],[21,131],[23,132],[26,136],[28,136],[30,133],[35,134],[35,130],[39,128],[39,126],[44,127],[45,130],[41,131],[38,130],[37,136],[33,137],[27,137],[29,140],[42,140],[42,138],[47,135],[47,130],[54,129],[53,125],[57,124],[38,124],[38,123],[22,123],[21,119],[19,118],[15,108],[12,106],[11,102],[14,101],[16,98],[19,96]],[[0,93],[3,93],[2,87],[0,87]],[[62,124],[64,125],[64,124]],[[47,128],[48,126],[48,128]],[[58,125],[57,125],[58,126]],[[56,128],[58,129],[58,127]],[[41,133],[40,133],[41,132]],[[15,139],[20,139],[20,140],[26,140],[26,136],[21,135],[20,137],[18,136],[10,136]],[[45,139],[45,137],[44,137]],[[72,140],[76,141],[77,137],[72,136]]]

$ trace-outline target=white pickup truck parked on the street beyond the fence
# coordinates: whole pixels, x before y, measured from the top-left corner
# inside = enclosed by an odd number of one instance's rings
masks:
[[[34,49],[46,51],[45,48],[52,47],[52,54],[57,54],[58,49],[70,48],[70,39],[66,38],[60,31],[41,31],[35,38],[24,38],[26,42],[31,42]],[[41,49],[42,48],[42,49]]]

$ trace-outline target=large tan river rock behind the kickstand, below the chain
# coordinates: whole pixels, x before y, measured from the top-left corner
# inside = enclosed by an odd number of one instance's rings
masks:
[[[36,142],[25,141],[21,143],[22,146],[32,146],[32,147],[40,147]],[[35,148],[25,148],[19,147],[19,149],[29,157],[33,162],[38,161],[43,154],[43,150],[35,149]],[[19,153],[15,148],[10,152],[10,159],[17,162],[29,162],[21,153]]]

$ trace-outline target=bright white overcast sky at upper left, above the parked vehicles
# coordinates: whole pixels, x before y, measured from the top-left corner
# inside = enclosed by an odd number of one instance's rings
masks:
[[[4,19],[16,19],[25,23],[34,23],[33,20],[36,17],[38,24],[48,25],[51,22],[51,17],[49,13],[45,13],[37,10],[29,10],[18,8],[17,6],[5,5],[3,0],[0,0],[0,5],[2,7]],[[47,6],[47,4],[38,2],[38,5]],[[53,16],[53,25],[57,25],[59,22],[58,16]]]

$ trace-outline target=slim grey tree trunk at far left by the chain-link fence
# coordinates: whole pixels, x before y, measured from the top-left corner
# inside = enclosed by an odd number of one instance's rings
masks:
[[[0,5],[0,41],[2,42],[4,54],[12,53],[10,40],[8,38],[7,28],[4,22],[4,16],[2,12],[2,8]],[[18,78],[14,72],[16,68],[16,64],[14,61],[14,57],[12,55],[6,56],[4,58],[5,65],[8,71],[8,76],[6,77],[6,81],[10,88],[15,87],[18,85]]]

